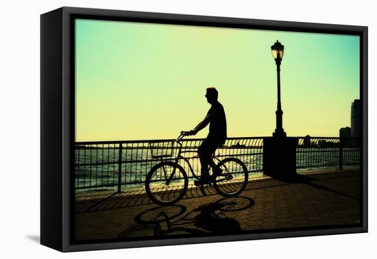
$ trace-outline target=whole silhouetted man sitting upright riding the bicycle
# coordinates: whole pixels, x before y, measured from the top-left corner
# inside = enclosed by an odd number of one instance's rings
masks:
[[[215,153],[217,147],[221,147],[226,140],[226,116],[223,106],[217,101],[218,93],[216,88],[207,88],[205,96],[211,108],[208,110],[206,118],[194,130],[189,132],[190,135],[195,135],[208,124],[210,125],[207,138],[203,140],[199,149],[197,149],[200,164],[202,164],[202,176],[199,181],[202,184],[208,184],[212,180],[212,177],[208,173],[208,165],[212,167],[214,173],[221,173],[221,170],[219,172],[215,171],[216,164],[211,159],[211,156],[212,153]]]

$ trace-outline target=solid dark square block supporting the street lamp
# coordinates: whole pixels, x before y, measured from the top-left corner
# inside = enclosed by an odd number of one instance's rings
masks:
[[[293,137],[263,138],[263,174],[277,178],[295,177],[296,146],[297,138]]]

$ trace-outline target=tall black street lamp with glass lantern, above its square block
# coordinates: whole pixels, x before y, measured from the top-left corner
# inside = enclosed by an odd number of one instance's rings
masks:
[[[278,75],[278,107],[276,114],[276,129],[272,136],[287,136],[282,127],[282,103],[280,102],[280,64],[282,63],[282,57],[284,56],[284,46],[276,40],[275,44],[271,46],[271,52],[273,59],[276,62],[276,72]]]

